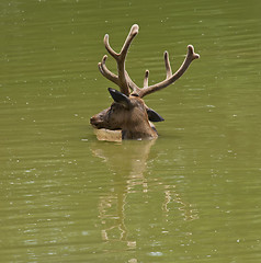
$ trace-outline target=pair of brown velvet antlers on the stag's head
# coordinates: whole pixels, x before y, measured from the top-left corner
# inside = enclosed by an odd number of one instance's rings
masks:
[[[155,91],[161,90],[170,84],[172,84],[175,80],[178,80],[184,72],[185,70],[189,68],[190,64],[196,59],[200,58],[198,54],[194,53],[194,48],[192,45],[188,46],[188,54],[186,57],[183,61],[183,64],[181,65],[181,67],[177,70],[177,72],[174,72],[172,75],[172,70],[171,70],[171,66],[170,66],[170,61],[169,61],[169,54],[168,52],[164,52],[164,66],[166,66],[166,72],[167,72],[167,77],[163,81],[152,84],[152,85],[148,85],[148,76],[149,76],[149,71],[146,70],[145,72],[145,78],[144,78],[144,88],[140,89],[138,88],[133,80],[129,78],[126,69],[125,69],[125,59],[127,56],[127,50],[130,46],[132,41],[134,39],[134,37],[138,34],[138,25],[134,24],[129,31],[129,34],[122,47],[122,50],[120,54],[115,53],[112,47],[109,44],[109,35],[106,34],[104,36],[104,44],[105,44],[105,48],[107,49],[109,54],[116,60],[117,62],[117,71],[118,75],[114,75],[113,72],[111,72],[106,66],[105,66],[105,61],[107,56],[105,55],[102,59],[101,62],[99,62],[99,69],[101,71],[101,73],[107,78],[109,80],[111,80],[112,82],[114,82],[115,84],[117,84],[121,89],[121,92],[129,95],[129,89],[133,90],[133,94],[136,94],[140,98],[150,94]]]

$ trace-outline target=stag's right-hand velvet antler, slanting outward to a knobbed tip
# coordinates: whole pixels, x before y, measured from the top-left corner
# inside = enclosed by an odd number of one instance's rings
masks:
[[[164,65],[166,65],[166,71],[167,71],[166,80],[163,80],[159,83],[149,85],[149,87],[145,87],[144,89],[140,89],[139,92],[138,92],[138,95],[140,98],[143,98],[145,95],[148,95],[148,94],[150,94],[155,91],[161,90],[161,89],[172,84],[175,80],[178,80],[185,72],[185,70],[189,68],[190,64],[196,58],[200,58],[200,55],[194,53],[194,47],[192,45],[189,45],[188,46],[188,54],[186,54],[186,57],[185,57],[183,64],[172,75],[170,62],[169,62],[169,55],[166,52],[164,53]]]

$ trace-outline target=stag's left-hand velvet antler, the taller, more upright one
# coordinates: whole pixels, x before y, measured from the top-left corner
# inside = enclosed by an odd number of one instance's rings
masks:
[[[106,66],[105,61],[107,56],[105,55],[102,58],[102,61],[98,64],[98,67],[101,71],[101,73],[107,78],[109,80],[113,81],[115,84],[117,84],[121,89],[121,92],[125,95],[129,95],[129,89],[139,89],[129,78],[127,71],[125,70],[125,59],[127,56],[127,50],[130,46],[132,41],[134,37],[138,34],[138,25],[134,24],[128,33],[128,36],[122,47],[121,53],[115,53],[112,47],[109,44],[109,35],[106,34],[104,36],[104,44],[105,48],[107,49],[109,54],[116,60],[117,62],[117,71],[118,76],[114,75],[112,71],[110,71]]]

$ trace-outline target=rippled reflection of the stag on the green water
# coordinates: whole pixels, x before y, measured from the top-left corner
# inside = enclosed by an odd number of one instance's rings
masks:
[[[160,174],[157,178],[147,176],[149,174],[148,167],[152,165],[154,160],[158,158],[158,153],[150,151],[155,142],[156,140],[117,144],[98,141],[92,145],[92,153],[103,159],[109,171],[114,174],[111,187],[107,188],[107,193],[100,196],[98,204],[99,217],[103,226],[103,241],[120,241],[124,242],[128,249],[136,248],[135,238],[130,238],[134,235],[129,233],[126,226],[126,221],[129,221],[126,210],[132,210],[128,197],[141,193],[144,201],[140,205],[149,204],[149,195],[156,193],[154,188],[156,186],[157,193],[162,193],[160,213],[167,222],[174,220],[171,216],[177,207],[180,210],[179,216],[183,217],[183,220],[197,218],[197,211],[191,204],[182,199],[174,184],[166,184],[160,179]],[[155,205],[151,206],[151,210],[156,209]]]

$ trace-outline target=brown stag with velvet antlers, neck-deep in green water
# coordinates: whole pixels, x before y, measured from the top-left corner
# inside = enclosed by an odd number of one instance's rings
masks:
[[[109,108],[91,117],[90,123],[97,129],[120,130],[122,139],[152,139],[158,137],[158,133],[151,122],[162,122],[163,118],[154,110],[149,108],[143,98],[161,90],[177,81],[189,68],[190,64],[200,58],[194,53],[192,45],[188,46],[186,57],[181,67],[172,73],[169,54],[164,52],[166,79],[156,84],[149,85],[149,70],[145,71],[144,87],[139,88],[128,76],[125,69],[125,60],[128,48],[138,34],[138,25],[134,24],[120,53],[109,44],[109,35],[104,36],[104,45],[109,54],[116,60],[117,75],[107,69],[104,55],[102,61],[98,64],[100,72],[110,81],[120,87],[120,91],[109,88],[114,102]]]

